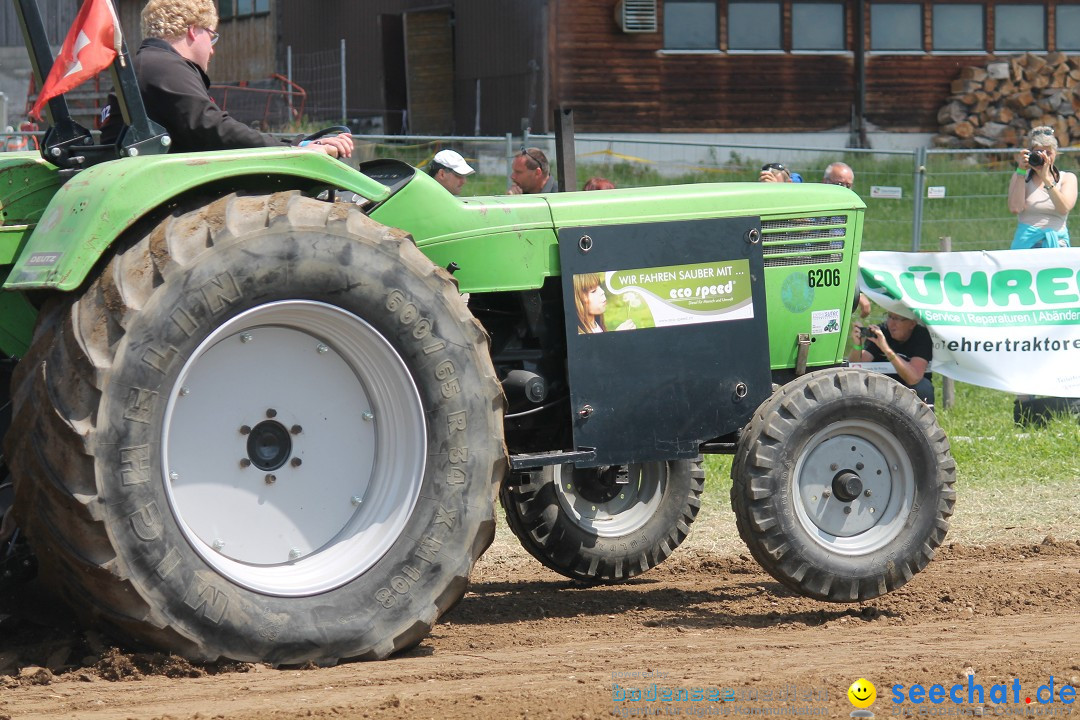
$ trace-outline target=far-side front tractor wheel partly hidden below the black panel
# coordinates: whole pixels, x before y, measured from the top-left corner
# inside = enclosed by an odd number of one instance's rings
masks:
[[[617,583],[660,565],[686,539],[704,477],[700,461],[554,465],[514,477],[501,499],[532,557],[582,583]]]

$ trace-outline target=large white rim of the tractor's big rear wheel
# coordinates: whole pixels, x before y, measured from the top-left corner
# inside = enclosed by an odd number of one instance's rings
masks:
[[[271,302],[221,325],[184,365],[161,458],[173,514],[218,573],[267,595],[316,595],[363,574],[404,530],[423,480],[423,407],[366,322]]]

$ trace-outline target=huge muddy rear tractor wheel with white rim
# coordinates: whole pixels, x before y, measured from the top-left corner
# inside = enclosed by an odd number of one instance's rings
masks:
[[[42,313],[8,453],[41,575],[197,661],[382,658],[490,543],[486,336],[408,236],[298,193],[173,216]]]

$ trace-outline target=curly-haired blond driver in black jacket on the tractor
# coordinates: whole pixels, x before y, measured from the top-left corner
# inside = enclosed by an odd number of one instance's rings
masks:
[[[143,36],[135,54],[135,76],[146,112],[172,138],[173,152],[281,147],[283,140],[260,133],[217,106],[206,76],[217,43],[214,0],[150,0],[143,9]],[[102,142],[112,144],[123,126],[116,98],[102,111]],[[346,133],[310,142],[332,158],[352,155]]]

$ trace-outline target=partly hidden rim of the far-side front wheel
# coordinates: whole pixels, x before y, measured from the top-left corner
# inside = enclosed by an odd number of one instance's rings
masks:
[[[581,494],[573,481],[573,465],[555,465],[555,494],[567,516],[597,538],[621,538],[640,529],[656,515],[663,498],[667,474],[657,463],[627,465],[629,483],[605,501]],[[580,472],[590,472],[585,468]]]

